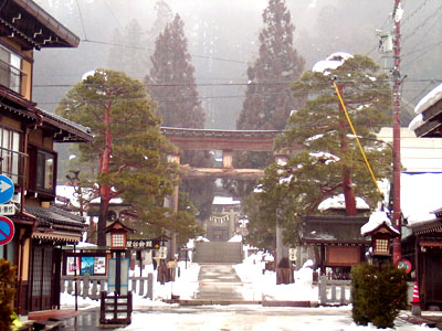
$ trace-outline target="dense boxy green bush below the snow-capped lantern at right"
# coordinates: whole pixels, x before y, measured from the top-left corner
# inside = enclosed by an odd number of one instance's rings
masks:
[[[407,274],[392,264],[351,268],[352,319],[359,325],[393,328],[407,308]]]

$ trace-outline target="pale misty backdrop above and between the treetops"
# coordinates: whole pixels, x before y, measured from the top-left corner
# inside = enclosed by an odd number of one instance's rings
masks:
[[[33,99],[53,110],[84,73],[98,67],[125,70],[140,81],[158,35],[157,0],[36,0],[81,38],[77,49],[35,52]],[[234,129],[244,99],[246,67],[257,56],[266,0],[169,0],[171,17],[185,22],[206,128]],[[392,32],[393,0],[287,0],[294,46],[306,70],[334,52],[372,57],[387,73],[392,53],[378,51],[377,30]],[[442,3],[402,1],[401,75],[402,126],[413,107],[442,81]],[[162,28],[162,26],[160,26]],[[131,30],[130,30],[131,29]],[[131,31],[131,32],[130,32]],[[127,66],[118,52],[133,53]],[[112,58],[114,56],[114,60]],[[125,67],[126,65],[126,67]],[[127,68],[127,70],[126,70]],[[308,120],[308,119],[307,119]]]

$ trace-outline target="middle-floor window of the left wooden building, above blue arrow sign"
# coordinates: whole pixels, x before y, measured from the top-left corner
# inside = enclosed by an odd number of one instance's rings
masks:
[[[0,172],[18,183],[20,158],[20,134],[0,126]]]

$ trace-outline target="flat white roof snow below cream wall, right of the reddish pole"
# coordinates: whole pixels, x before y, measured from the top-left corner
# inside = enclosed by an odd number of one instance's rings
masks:
[[[402,173],[401,211],[409,224],[432,221],[431,212],[442,206],[442,173]]]

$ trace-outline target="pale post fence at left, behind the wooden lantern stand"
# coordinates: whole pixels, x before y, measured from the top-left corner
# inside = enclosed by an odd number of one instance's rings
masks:
[[[77,296],[98,300],[102,291],[107,291],[107,276],[76,276]],[[129,277],[129,288],[133,293],[154,299],[154,275],[147,277]],[[75,276],[62,276],[61,292],[75,293]]]

